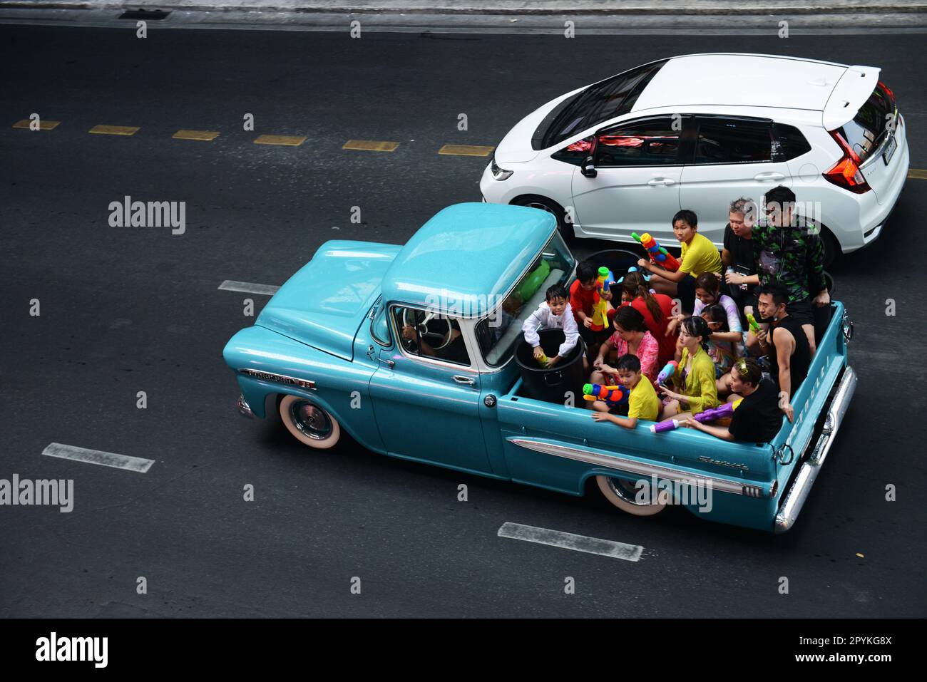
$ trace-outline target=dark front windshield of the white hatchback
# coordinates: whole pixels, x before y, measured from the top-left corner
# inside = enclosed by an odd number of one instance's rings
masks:
[[[561,109],[544,133],[544,147],[557,145],[567,137],[592,126],[627,114],[641,96],[647,83],[663,68],[667,60],[630,69],[617,76],[593,83]]]

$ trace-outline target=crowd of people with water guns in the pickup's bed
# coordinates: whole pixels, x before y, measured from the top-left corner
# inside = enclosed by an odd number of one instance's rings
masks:
[[[578,263],[568,305],[560,296],[556,311],[572,313],[571,336],[578,330],[586,343],[593,419],[748,442],[775,436],[783,414],[794,420],[791,400],[816,349],[815,309],[831,300],[820,236],[794,204],[781,185],[764,197],[762,216],[753,199],[732,201],[720,253],[698,233],[698,217],[680,210],[672,220],[679,267],[652,255],[614,273],[621,300],[602,291],[610,324],[601,329],[593,310],[601,263]]]

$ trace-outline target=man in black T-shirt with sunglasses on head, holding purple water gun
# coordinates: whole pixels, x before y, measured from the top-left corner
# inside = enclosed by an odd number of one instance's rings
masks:
[[[772,440],[782,425],[776,386],[763,378],[763,372],[754,360],[741,358],[730,368],[730,388],[733,395],[728,398],[728,402],[743,398],[730,417],[730,424],[719,426],[701,423],[689,417],[681,425],[722,440],[742,440],[749,443],[766,443]]]

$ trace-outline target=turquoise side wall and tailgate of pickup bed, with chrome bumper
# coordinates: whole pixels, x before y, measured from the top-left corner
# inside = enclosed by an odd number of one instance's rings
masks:
[[[806,380],[793,397],[794,423],[784,417],[769,443],[723,441],[691,429],[653,434],[597,423],[582,405],[566,407],[522,394],[522,382],[499,398],[505,461],[514,481],[582,495],[592,476],[633,485],[641,479],[707,481],[714,491],[710,520],[782,532],[794,524],[853,396],[847,365],[851,325],[844,306],[831,305]],[[580,397],[581,398],[581,397]],[[579,400],[581,402],[581,399]]]

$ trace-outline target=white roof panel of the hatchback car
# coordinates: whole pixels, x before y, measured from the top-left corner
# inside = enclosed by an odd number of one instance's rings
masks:
[[[699,105],[822,111],[847,68],[844,64],[774,55],[672,57],[647,84],[631,111]]]

